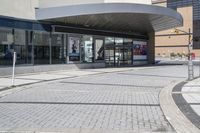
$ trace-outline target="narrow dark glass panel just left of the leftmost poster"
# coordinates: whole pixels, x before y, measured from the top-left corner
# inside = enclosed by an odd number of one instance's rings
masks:
[[[64,45],[62,34],[53,34],[51,41],[52,64],[64,63]]]

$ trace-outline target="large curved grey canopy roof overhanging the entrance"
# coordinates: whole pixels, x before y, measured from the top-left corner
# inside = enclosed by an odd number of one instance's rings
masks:
[[[147,33],[181,26],[176,11],[130,3],[82,4],[36,10],[36,19],[86,28],[126,33]]]

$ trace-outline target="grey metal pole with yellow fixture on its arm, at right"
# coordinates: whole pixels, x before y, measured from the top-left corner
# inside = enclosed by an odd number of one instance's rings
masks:
[[[188,80],[192,80],[194,78],[194,68],[193,68],[193,62],[192,62],[192,57],[191,57],[191,50],[192,50],[191,30],[189,28],[188,32],[186,32],[180,29],[175,29],[174,32],[176,34],[179,34],[179,32],[182,32],[188,35]]]

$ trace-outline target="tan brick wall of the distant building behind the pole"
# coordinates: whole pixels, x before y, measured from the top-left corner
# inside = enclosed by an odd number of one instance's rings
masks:
[[[166,2],[154,3],[158,6],[167,5]],[[183,16],[183,26],[177,29],[193,33],[193,7],[191,5],[178,7],[177,11]],[[200,56],[200,50],[192,50],[196,56]],[[188,35],[183,32],[174,33],[174,29],[156,32],[155,56],[169,57],[170,53],[188,54]]]

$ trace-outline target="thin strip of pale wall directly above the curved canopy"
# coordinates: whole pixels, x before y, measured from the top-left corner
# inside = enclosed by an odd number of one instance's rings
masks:
[[[64,5],[76,4],[93,4],[93,3],[141,3],[151,4],[151,0],[39,0],[40,8],[57,7]]]

